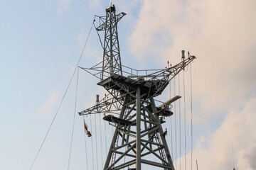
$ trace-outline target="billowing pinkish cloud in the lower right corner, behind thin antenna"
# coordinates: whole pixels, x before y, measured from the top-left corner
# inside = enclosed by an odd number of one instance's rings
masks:
[[[199,169],[233,169],[233,151],[236,169],[256,169],[256,98],[251,98],[241,111],[231,111],[220,128],[210,137],[202,136],[193,149],[193,169],[198,160]],[[191,167],[191,154],[186,155]],[[177,160],[179,165],[180,159]],[[184,157],[181,157],[184,166]],[[179,169],[179,167],[177,168]]]

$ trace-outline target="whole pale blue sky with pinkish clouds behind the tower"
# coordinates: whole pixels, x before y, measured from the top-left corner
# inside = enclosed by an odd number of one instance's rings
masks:
[[[186,169],[191,168],[192,75],[193,169],[197,160],[201,170],[231,170],[234,165],[238,170],[255,170],[254,0],[1,1],[0,169],[30,168],[73,75],[94,15],[104,16],[110,3],[117,13],[127,13],[118,26],[122,64],[163,69],[167,61],[181,62],[181,50],[197,57],[184,72],[186,151],[184,132],[181,152],[179,134],[175,136],[178,103],[176,113],[163,124],[168,129],[169,149],[173,148],[174,167],[185,169],[186,157]],[[102,47],[92,28],[79,66],[92,67],[101,60]],[[76,72],[32,169],[68,169],[74,112],[70,169],[102,169],[113,129],[103,123],[102,115],[89,116],[85,120],[97,135],[85,137],[77,112],[95,104],[95,95],[102,98],[105,91],[97,86],[97,79],[79,70],[75,111],[77,77]],[[171,96],[178,93],[177,79],[175,88],[171,82]],[[180,81],[183,90],[182,73]],[[169,98],[167,88],[159,99]],[[184,127],[184,109],[181,114]]]

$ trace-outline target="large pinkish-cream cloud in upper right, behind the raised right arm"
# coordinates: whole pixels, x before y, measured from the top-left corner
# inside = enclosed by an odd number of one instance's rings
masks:
[[[198,57],[194,97],[207,113],[200,116],[242,106],[256,83],[255,6],[256,1],[144,1],[131,50],[139,62],[153,55],[163,67],[167,60],[181,61],[181,50],[191,50]]]

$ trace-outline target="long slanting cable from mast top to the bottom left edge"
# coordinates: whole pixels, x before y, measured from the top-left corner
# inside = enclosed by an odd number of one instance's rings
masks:
[[[93,23],[92,23],[92,26],[93,26]],[[86,41],[85,41],[85,45],[84,45],[84,47],[82,48],[82,52],[81,52],[81,55],[80,55],[80,57],[79,57],[78,63],[76,64],[75,70],[74,70],[74,72],[73,72],[73,74],[72,74],[72,77],[71,77],[69,83],[68,83],[68,86],[67,86],[67,88],[66,88],[66,90],[65,90],[65,93],[64,93],[64,95],[63,95],[63,98],[62,98],[61,101],[60,101],[60,105],[58,106],[58,109],[57,109],[57,111],[55,112],[55,115],[54,115],[54,117],[53,117],[53,120],[52,120],[52,122],[50,123],[50,127],[48,128],[48,131],[46,132],[46,136],[43,138],[43,142],[41,143],[41,146],[39,147],[38,152],[36,153],[36,157],[33,159],[33,162],[32,162],[32,164],[31,164],[31,167],[29,168],[29,170],[32,169],[33,164],[36,162],[36,158],[38,157],[38,154],[41,152],[41,149],[42,149],[42,147],[43,147],[43,144],[44,144],[44,142],[46,141],[46,137],[48,136],[48,133],[50,132],[50,128],[53,126],[54,120],[55,120],[56,116],[58,115],[58,112],[60,111],[60,106],[62,106],[62,103],[63,103],[63,101],[64,101],[64,98],[65,98],[65,96],[66,96],[66,94],[67,94],[67,92],[68,92],[68,89],[69,89],[69,87],[70,87],[71,81],[73,80],[73,77],[74,77],[74,75],[75,75],[75,72],[76,72],[76,70],[78,69],[78,65],[79,65],[80,60],[81,60],[81,58],[82,58],[82,54],[83,54],[83,52],[85,51],[85,47],[86,47],[87,41],[88,41],[88,39],[89,39],[89,37],[90,37],[90,33],[91,33],[91,30],[92,30],[92,26],[91,26],[91,28],[90,28],[89,34],[88,34],[88,36],[87,36],[87,39],[86,39]]]

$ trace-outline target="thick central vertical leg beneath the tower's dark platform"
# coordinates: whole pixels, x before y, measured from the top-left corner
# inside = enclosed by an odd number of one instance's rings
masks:
[[[136,170],[142,169],[141,160],[141,106],[140,106],[140,88],[136,93]]]

